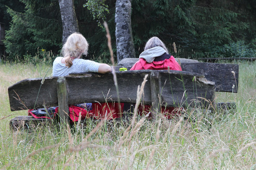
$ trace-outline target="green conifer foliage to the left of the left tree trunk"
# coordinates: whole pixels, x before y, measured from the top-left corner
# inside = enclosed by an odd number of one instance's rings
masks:
[[[8,59],[14,60],[18,55],[34,57],[38,49],[45,49],[56,54],[61,47],[61,21],[57,0],[48,3],[22,0],[26,5],[24,12],[16,12],[8,8],[12,17],[10,29],[6,31],[4,44]],[[57,8],[58,9],[58,8]]]

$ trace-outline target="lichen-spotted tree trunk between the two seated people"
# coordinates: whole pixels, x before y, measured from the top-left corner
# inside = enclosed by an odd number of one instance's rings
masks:
[[[116,1],[116,46],[118,62],[123,58],[135,57],[131,32],[131,0]]]

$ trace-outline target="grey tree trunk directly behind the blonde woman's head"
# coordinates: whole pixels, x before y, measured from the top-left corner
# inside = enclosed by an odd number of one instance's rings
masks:
[[[75,6],[73,0],[59,0],[60,14],[62,20],[62,43],[73,32],[78,32],[78,21],[75,13]]]

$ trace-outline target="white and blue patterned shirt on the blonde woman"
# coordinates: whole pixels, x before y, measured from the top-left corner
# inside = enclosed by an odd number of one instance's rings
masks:
[[[65,64],[61,63],[63,57],[56,57],[53,61],[52,76],[67,76],[70,73],[83,73],[83,72],[98,72],[98,62],[88,59],[73,60],[73,65],[68,68]]]

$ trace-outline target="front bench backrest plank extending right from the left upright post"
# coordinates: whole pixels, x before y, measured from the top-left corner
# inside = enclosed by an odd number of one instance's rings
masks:
[[[204,97],[208,100],[212,100],[214,97],[214,83],[203,79],[204,76],[201,74],[175,70],[171,70],[170,73],[167,70],[135,70],[116,72],[120,101],[136,103],[137,87],[141,85],[144,76],[151,74],[151,72],[160,74],[162,84],[159,86],[159,94],[162,102],[165,102],[167,106],[186,106],[196,97]],[[70,104],[117,101],[117,93],[112,77],[112,74],[102,75],[98,73],[74,74],[66,77]],[[192,81],[194,77],[197,80],[196,82]],[[170,81],[171,85],[165,84],[165,82]],[[94,88],[92,89],[87,82],[92,83]],[[187,96],[183,96],[184,90],[186,90]],[[105,98],[102,98],[102,96],[105,96]],[[187,101],[187,103],[184,103],[184,101]],[[142,102],[152,104],[150,80],[145,84]]]

